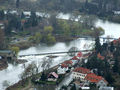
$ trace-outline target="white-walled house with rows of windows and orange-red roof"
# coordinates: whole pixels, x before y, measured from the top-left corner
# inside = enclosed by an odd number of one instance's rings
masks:
[[[80,81],[85,81],[85,77],[88,73],[91,73],[89,69],[78,67],[75,68],[72,72],[73,79],[78,79]]]

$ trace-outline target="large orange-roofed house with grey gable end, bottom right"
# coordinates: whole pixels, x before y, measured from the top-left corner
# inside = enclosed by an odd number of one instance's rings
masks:
[[[97,76],[94,73],[88,73],[85,80],[89,83],[95,83],[97,87],[105,87],[108,84],[102,76]]]

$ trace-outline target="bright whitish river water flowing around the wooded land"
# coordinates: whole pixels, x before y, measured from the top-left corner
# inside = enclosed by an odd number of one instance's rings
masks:
[[[62,19],[69,19],[70,15],[69,14],[60,14],[60,18]],[[103,35],[104,37],[110,35],[114,38],[119,38],[120,36],[120,24],[109,22],[109,21],[103,21],[98,19],[96,21],[96,26],[97,27],[102,27],[105,30],[105,34]],[[47,52],[60,52],[60,51],[68,51],[71,47],[77,47],[79,50],[84,50],[84,49],[90,49],[91,45],[94,44],[94,41],[92,40],[86,40],[86,39],[76,39],[71,42],[65,43],[65,42],[57,42],[56,44],[52,46],[47,46],[44,44],[39,44],[35,47],[30,47],[26,50],[21,50],[19,52],[19,55],[28,55],[28,54],[38,54],[38,53],[47,53]],[[42,58],[44,56],[26,56],[22,57],[19,59],[27,59],[28,62],[25,63],[25,65],[29,65],[31,62],[36,62],[36,63],[41,63]],[[53,64],[52,66],[55,66],[70,57],[67,54],[61,54],[59,57],[53,59]],[[9,82],[9,85],[12,85],[20,80],[20,74],[23,72],[24,66],[23,64],[20,65],[12,65],[9,64],[8,68],[5,70],[0,71],[0,90],[4,90],[6,88],[5,85],[3,85],[3,82],[7,80]],[[41,70],[41,69],[40,69]]]

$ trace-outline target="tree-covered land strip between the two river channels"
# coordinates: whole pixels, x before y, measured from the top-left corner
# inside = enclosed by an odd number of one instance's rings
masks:
[[[69,20],[56,18],[57,14],[53,13],[50,17],[40,17],[31,12],[29,17],[24,13],[19,15],[11,14],[9,11],[4,14],[0,11],[0,20],[4,23],[5,29],[2,30],[2,39],[8,40],[9,47],[17,46],[20,49],[28,48],[31,45],[46,43],[54,44],[56,41],[70,41],[78,38],[81,35],[95,36],[104,34],[104,30],[100,27],[94,27],[94,16],[83,15],[78,21],[75,21],[75,16]],[[6,45],[6,46],[7,46]],[[3,48],[3,45],[1,46]]]

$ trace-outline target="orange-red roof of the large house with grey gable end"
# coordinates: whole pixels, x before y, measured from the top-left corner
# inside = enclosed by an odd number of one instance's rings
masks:
[[[88,80],[88,81],[90,81],[90,82],[92,82],[92,83],[98,83],[101,80],[105,81],[102,76],[97,76],[94,73],[87,74],[86,77],[85,77],[85,79]]]

